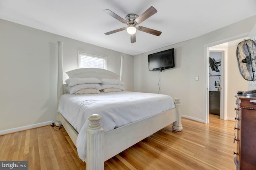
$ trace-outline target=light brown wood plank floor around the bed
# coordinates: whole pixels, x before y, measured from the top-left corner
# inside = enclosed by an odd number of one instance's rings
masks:
[[[172,126],[154,133],[105,162],[106,170],[235,170],[234,121],[210,115],[204,124],[182,118],[183,131]],[[0,160],[28,160],[29,170],[80,170],[67,133],[45,126],[0,136]]]

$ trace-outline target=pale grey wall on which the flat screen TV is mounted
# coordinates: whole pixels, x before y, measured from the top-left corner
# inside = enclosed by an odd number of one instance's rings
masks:
[[[253,16],[200,37],[134,56],[134,91],[158,92],[158,71],[148,70],[148,54],[174,48],[176,67],[160,72],[160,93],[180,98],[182,114],[203,121],[205,45],[248,33],[255,23]]]

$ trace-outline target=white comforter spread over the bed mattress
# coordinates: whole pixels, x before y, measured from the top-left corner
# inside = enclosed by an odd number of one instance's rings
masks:
[[[174,108],[174,101],[163,94],[139,92],[110,92],[100,94],[64,94],[60,97],[58,112],[78,132],[76,147],[79,157],[86,160],[86,130],[88,117],[102,116],[104,131]]]

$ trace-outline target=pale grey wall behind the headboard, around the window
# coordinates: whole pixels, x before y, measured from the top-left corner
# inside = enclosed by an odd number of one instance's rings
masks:
[[[126,90],[133,90],[133,56],[0,20],[0,131],[56,119],[57,41],[64,42],[64,71],[78,68],[78,50],[108,57]]]

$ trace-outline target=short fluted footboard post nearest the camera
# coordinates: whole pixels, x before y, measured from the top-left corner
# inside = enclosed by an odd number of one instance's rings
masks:
[[[93,114],[89,118],[86,139],[86,170],[104,170],[103,129],[101,115]]]

